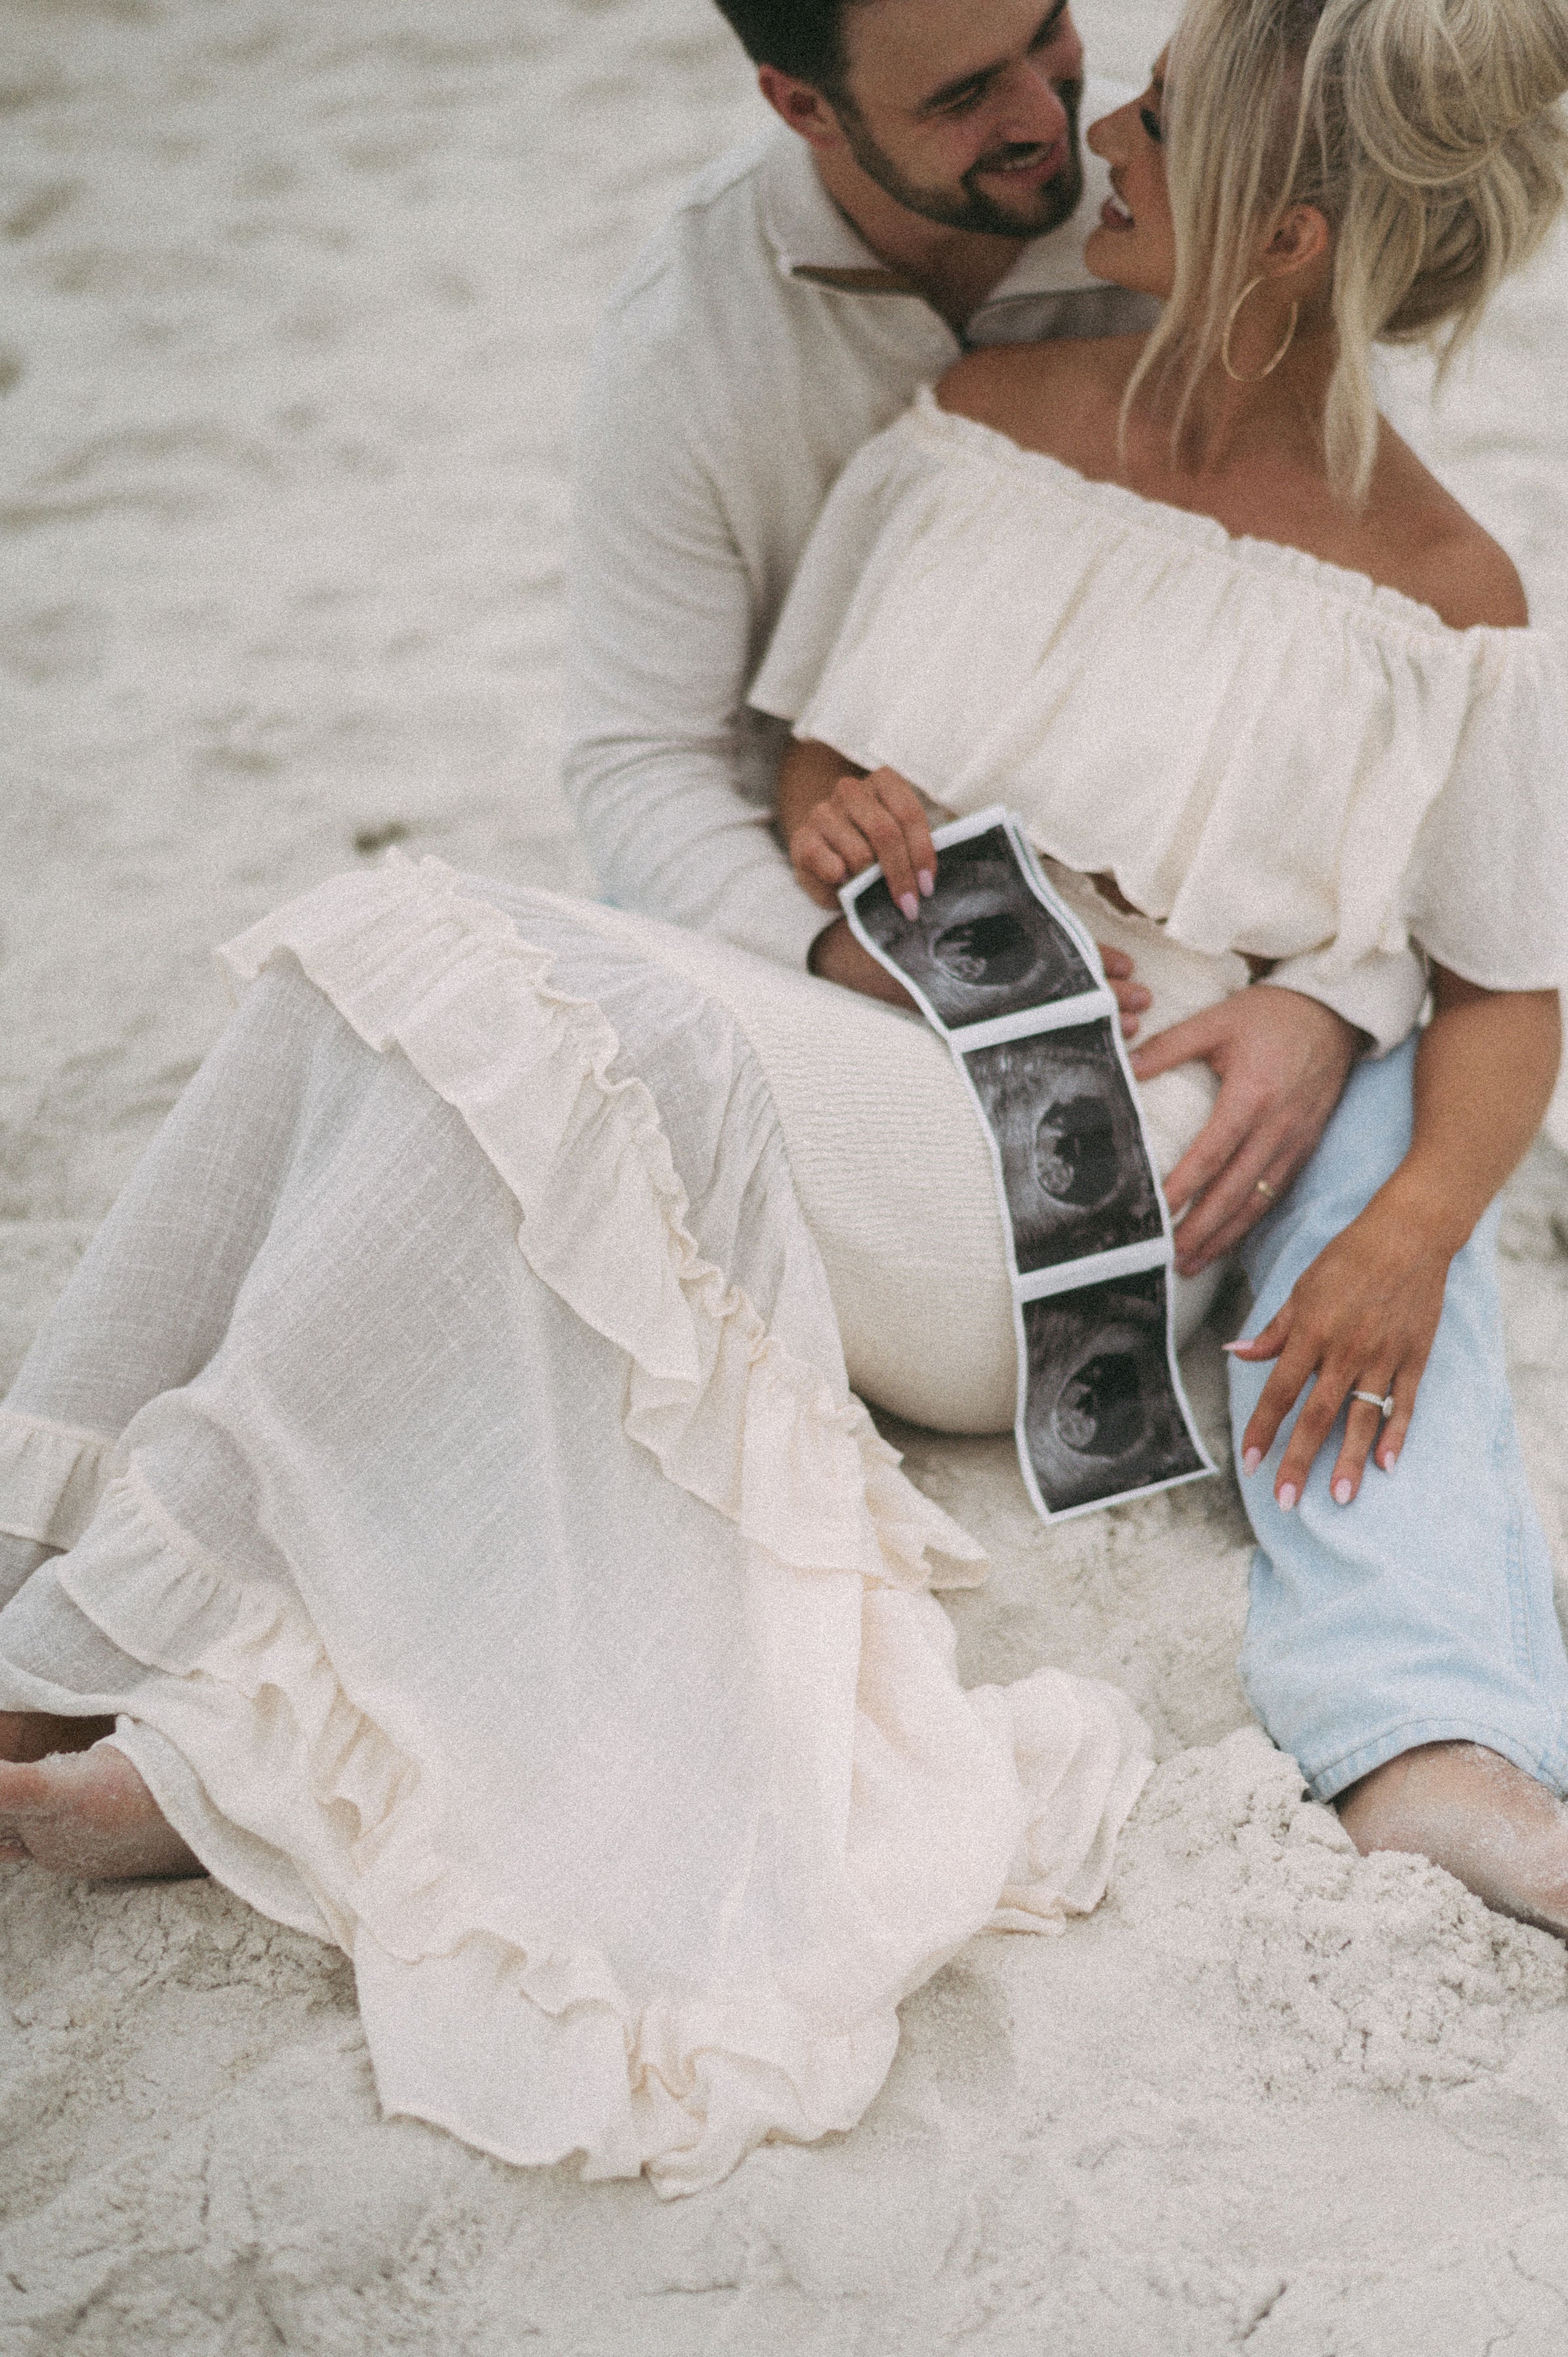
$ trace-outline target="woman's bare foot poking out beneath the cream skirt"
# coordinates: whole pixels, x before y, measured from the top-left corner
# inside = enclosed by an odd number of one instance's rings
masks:
[[[116,1744],[0,1763],[0,1864],[21,1860],[54,1874],[205,1871]]]

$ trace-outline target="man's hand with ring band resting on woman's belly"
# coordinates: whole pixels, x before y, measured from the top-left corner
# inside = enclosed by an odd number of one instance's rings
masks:
[[[1165,1181],[1172,1216],[1191,1204],[1177,1228],[1184,1277],[1233,1252],[1311,1160],[1358,1049],[1361,1032],[1332,1006],[1271,983],[1238,990],[1134,1049],[1139,1080],[1179,1063],[1207,1063],[1219,1075],[1207,1124]]]

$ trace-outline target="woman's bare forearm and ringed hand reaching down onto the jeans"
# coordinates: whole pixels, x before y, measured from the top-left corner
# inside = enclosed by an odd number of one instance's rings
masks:
[[[1306,1268],[1238,1358],[1276,1360],[1243,1435],[1252,1473],[1309,1376],[1273,1494],[1290,1508],[1351,1391],[1394,1393],[1394,1414],[1351,1400],[1332,1494],[1356,1497],[1377,1442],[1394,1471],[1443,1315],[1448,1263],[1540,1129],[1561,1054],[1556,990],[1481,990],[1431,969],[1434,1018],[1415,1056],[1410,1153],[1365,1211]]]

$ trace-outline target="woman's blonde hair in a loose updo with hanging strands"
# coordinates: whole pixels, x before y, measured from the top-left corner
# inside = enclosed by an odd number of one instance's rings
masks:
[[[1568,0],[1191,0],[1165,85],[1177,280],[1139,370],[1174,436],[1252,257],[1292,205],[1335,236],[1332,488],[1377,455],[1377,339],[1441,365],[1544,238],[1568,181]],[[1443,330],[1448,330],[1443,335]]]

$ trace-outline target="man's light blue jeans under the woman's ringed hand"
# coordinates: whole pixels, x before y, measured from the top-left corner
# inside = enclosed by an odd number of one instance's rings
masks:
[[[1405,1155],[1412,1070],[1415,1042],[1358,1065],[1313,1160],[1247,1237],[1250,1334]],[[1568,1657],[1514,1428],[1495,1261],[1497,1207],[1448,1273],[1394,1473],[1368,1464],[1358,1499],[1332,1501],[1342,1419],[1299,1506],[1280,1513],[1273,1478],[1292,1417],[1240,1475],[1259,1539],[1243,1683],[1318,1801],[1415,1744],[1455,1739],[1502,1751],[1551,1791],[1568,1784]],[[1266,1374],[1231,1365],[1238,1457]]]

